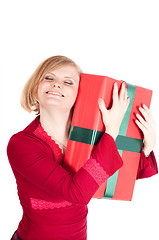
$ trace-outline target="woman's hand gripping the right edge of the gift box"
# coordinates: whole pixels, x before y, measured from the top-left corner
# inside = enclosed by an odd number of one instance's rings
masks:
[[[148,107],[143,104],[143,107],[139,108],[142,115],[136,114],[136,124],[141,129],[144,135],[144,147],[143,151],[148,157],[150,152],[154,149],[156,144],[156,126],[155,121],[151,115]]]

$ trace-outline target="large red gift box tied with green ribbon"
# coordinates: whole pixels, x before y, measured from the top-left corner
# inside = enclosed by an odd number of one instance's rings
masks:
[[[106,107],[110,108],[115,82],[120,88],[122,81],[105,76],[81,74],[64,159],[65,168],[72,172],[78,171],[89,159],[92,149],[104,133],[105,128],[98,107],[98,99],[103,98]],[[116,139],[116,145],[124,164],[107,182],[100,186],[94,195],[95,198],[132,199],[143,144],[142,133],[134,121],[135,114],[143,103],[150,106],[152,91],[126,84],[130,104]]]

